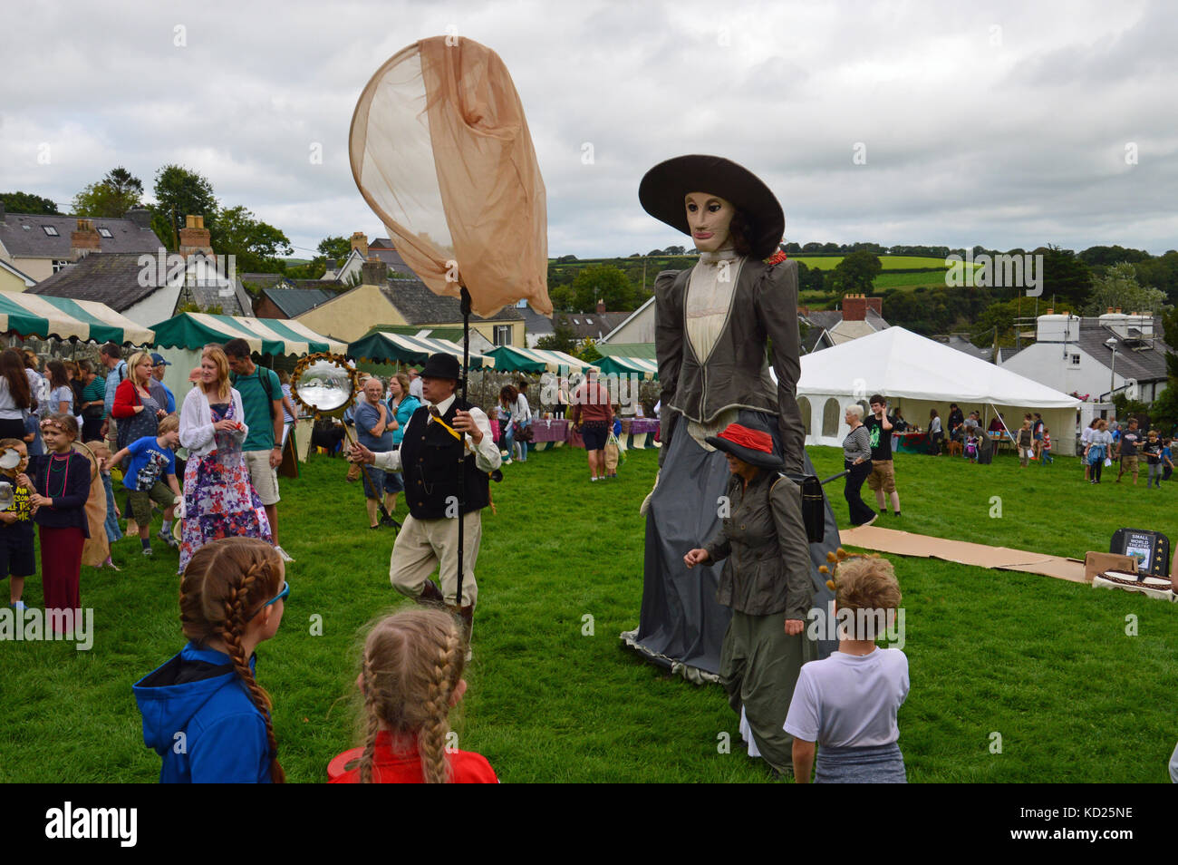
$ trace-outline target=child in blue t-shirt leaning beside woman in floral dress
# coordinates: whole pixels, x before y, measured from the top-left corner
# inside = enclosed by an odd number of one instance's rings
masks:
[[[157,434],[133,441],[111,457],[111,464],[119,463],[124,457],[131,457],[123,477],[123,486],[130,490],[128,510],[131,519],[139,523],[139,542],[146,556],[152,554],[151,503],[154,501],[164,508],[164,527],[157,537],[176,549],[179,544],[172,537],[172,515],[176,513],[177,502],[184,495],[176,482],[176,449],[180,444],[180,420],[176,415],[168,415],[159,422]],[[167,483],[160,480],[161,477]]]

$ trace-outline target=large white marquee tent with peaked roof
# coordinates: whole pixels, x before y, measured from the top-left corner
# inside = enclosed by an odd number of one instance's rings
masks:
[[[1038,411],[1051,430],[1053,453],[1073,454],[1079,400],[904,328],[803,355],[801,367],[798,402],[807,444],[842,444],[847,404],[866,405],[873,394],[882,394],[889,410],[899,408],[922,429],[929,409],[945,424],[951,402],[967,416],[981,412],[984,425],[1001,412],[1012,431],[1024,414]]]

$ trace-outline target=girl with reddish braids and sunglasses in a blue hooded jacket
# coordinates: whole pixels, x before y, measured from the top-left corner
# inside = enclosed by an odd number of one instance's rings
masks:
[[[286,780],[253,649],[278,633],[289,594],[265,541],[226,537],[192,555],[180,582],[188,645],[134,686],[144,741],[164,759],[160,783]]]

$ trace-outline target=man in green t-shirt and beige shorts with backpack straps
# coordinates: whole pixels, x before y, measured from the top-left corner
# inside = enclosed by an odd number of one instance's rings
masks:
[[[233,387],[241,395],[245,425],[250,428],[250,434],[241,443],[245,462],[250,467],[250,480],[258,491],[258,498],[266,506],[274,549],[284,561],[294,561],[278,546],[278,473],[274,469],[283,461],[282,383],[273,370],[253,363],[250,344],[245,339],[230,339],[225,343],[225,356],[233,371]]]

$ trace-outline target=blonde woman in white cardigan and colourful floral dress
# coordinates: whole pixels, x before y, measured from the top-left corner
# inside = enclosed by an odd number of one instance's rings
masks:
[[[229,383],[229,359],[218,346],[200,356],[200,379],[180,409],[180,444],[188,449],[184,470],[184,524],[180,573],[192,554],[219,537],[271,540],[266,509],[250,483],[241,442],[241,395]]]

